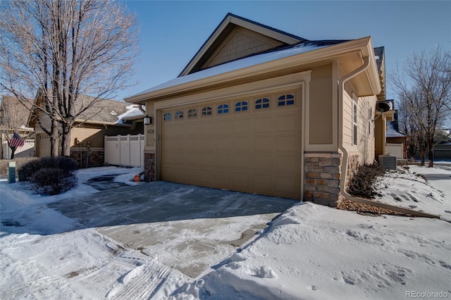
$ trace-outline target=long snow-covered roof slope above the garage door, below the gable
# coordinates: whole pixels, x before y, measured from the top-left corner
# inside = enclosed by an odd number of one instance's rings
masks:
[[[344,42],[344,41],[338,41]],[[295,46],[290,46],[289,48],[284,48],[276,51],[268,51],[263,54],[257,54],[254,56],[248,56],[246,58],[238,59],[237,61],[230,61],[230,63],[224,63],[222,65],[216,65],[215,67],[208,68],[205,70],[201,70],[196,73],[192,73],[190,75],[180,76],[173,80],[169,80],[168,82],[164,82],[161,85],[156,85],[155,87],[151,87],[150,89],[146,89],[143,92],[135,94],[133,96],[137,96],[140,94],[147,94],[149,92],[155,92],[159,89],[166,89],[168,87],[175,87],[176,85],[183,85],[187,82],[193,82],[195,80],[201,80],[206,77],[211,77],[214,75],[219,75],[223,73],[232,72],[234,70],[240,70],[242,68],[248,68],[252,65],[259,65],[261,63],[267,63],[269,61],[276,61],[281,58],[295,56],[297,54],[303,54],[309,51],[313,51],[316,49],[321,49],[326,46],[330,46],[330,44],[336,44],[337,41],[328,42],[302,42],[296,44]]]

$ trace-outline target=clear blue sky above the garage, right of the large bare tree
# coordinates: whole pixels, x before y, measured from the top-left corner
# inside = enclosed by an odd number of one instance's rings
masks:
[[[451,1],[137,1],[140,20],[137,85],[123,99],[177,77],[227,13],[305,39],[359,39],[385,46],[387,72],[412,52],[451,48]],[[396,95],[388,86],[388,99]]]

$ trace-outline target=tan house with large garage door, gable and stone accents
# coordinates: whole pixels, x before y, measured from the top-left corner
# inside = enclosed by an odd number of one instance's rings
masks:
[[[226,15],[177,78],[125,99],[153,118],[144,175],[335,206],[385,128],[379,50]]]

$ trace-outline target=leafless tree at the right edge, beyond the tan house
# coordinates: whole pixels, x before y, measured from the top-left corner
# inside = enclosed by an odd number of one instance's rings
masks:
[[[410,126],[419,139],[424,139],[429,157],[428,166],[433,167],[435,132],[450,122],[451,107],[451,55],[440,46],[430,52],[412,54],[404,62],[402,70],[397,69],[390,76],[391,83],[400,97],[401,106],[409,115]],[[424,165],[424,156],[421,164]]]

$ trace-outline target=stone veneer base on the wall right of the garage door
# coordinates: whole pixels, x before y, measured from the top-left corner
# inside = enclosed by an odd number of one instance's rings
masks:
[[[304,154],[304,200],[338,206],[340,191],[340,153]]]

